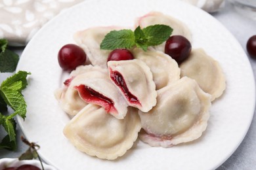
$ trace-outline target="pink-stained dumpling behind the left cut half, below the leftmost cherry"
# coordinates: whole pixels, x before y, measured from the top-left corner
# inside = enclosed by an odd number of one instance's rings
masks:
[[[55,97],[64,112],[75,115],[87,105],[87,103],[81,99],[77,90],[74,89],[74,86],[80,84],[84,78],[92,77],[108,78],[108,72],[97,66],[79,66],[70,73],[70,78],[65,80],[64,87],[56,90]]]

